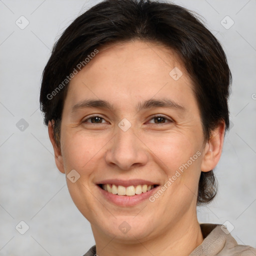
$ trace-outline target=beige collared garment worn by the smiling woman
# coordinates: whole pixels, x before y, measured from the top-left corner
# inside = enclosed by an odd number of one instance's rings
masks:
[[[203,242],[189,256],[256,256],[255,248],[237,244],[225,226],[201,223],[200,227]],[[97,256],[95,245],[83,256]]]

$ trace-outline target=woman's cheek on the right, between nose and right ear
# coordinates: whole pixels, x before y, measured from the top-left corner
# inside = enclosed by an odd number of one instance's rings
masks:
[[[149,137],[143,139],[152,152],[153,161],[160,166],[159,174],[164,175],[166,180],[171,179],[165,194],[175,194],[177,198],[183,194],[184,200],[191,200],[198,186],[202,155],[197,139],[192,134],[180,132]]]

